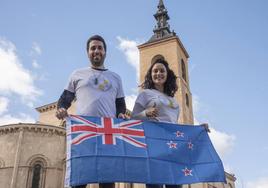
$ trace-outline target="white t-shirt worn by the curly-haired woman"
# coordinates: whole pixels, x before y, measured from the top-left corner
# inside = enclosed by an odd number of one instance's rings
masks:
[[[140,92],[133,108],[132,117],[150,120],[145,116],[144,110],[153,106],[158,108],[157,121],[177,123],[179,104],[173,97],[155,89],[145,89]]]

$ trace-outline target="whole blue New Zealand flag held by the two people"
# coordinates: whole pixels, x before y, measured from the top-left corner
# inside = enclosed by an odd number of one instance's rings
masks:
[[[202,126],[70,115],[66,186],[225,182]]]

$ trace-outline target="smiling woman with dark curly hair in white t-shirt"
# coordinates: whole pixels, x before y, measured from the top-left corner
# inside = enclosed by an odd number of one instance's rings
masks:
[[[149,68],[144,89],[138,95],[132,111],[133,119],[154,120],[177,123],[179,105],[173,98],[178,86],[177,77],[165,60],[156,60]],[[161,188],[163,185],[147,184],[147,188]],[[167,188],[179,188],[180,185],[166,185]]]

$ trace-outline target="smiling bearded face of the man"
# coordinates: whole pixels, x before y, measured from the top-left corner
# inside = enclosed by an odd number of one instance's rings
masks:
[[[89,43],[88,57],[94,67],[101,67],[105,59],[105,49],[101,41],[93,40]]]

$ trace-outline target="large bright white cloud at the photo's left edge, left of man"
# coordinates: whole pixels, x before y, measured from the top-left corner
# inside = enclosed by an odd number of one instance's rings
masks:
[[[25,69],[16,54],[15,45],[0,38],[0,92],[15,93],[27,100],[35,100],[41,91],[34,85],[32,73]]]

